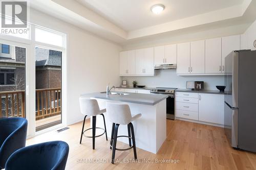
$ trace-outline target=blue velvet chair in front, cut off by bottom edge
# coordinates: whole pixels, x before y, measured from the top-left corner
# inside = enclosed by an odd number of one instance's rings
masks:
[[[14,152],[5,170],[63,170],[68,155],[69,145],[64,141],[34,144]]]

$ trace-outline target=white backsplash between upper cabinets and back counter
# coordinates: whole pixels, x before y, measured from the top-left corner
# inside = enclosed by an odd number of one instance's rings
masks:
[[[146,87],[176,87],[186,88],[187,81],[204,81],[205,90],[218,90],[216,86],[224,85],[224,76],[177,76],[176,69],[155,70],[155,76],[132,76],[122,77],[127,80],[129,86],[133,86],[132,82],[137,81],[138,85]]]

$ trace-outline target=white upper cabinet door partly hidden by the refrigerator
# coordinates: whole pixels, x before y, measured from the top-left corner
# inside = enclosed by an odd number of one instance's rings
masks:
[[[225,72],[225,57],[235,50],[240,50],[240,35],[222,37],[222,72]]]

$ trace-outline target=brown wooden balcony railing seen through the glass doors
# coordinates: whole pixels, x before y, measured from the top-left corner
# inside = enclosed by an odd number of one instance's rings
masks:
[[[35,118],[61,114],[61,88],[36,89]],[[25,117],[25,90],[0,92],[0,117]]]

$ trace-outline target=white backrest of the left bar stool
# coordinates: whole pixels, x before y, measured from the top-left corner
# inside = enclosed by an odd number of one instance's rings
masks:
[[[84,115],[94,116],[99,113],[99,105],[95,99],[79,98],[80,111]]]

